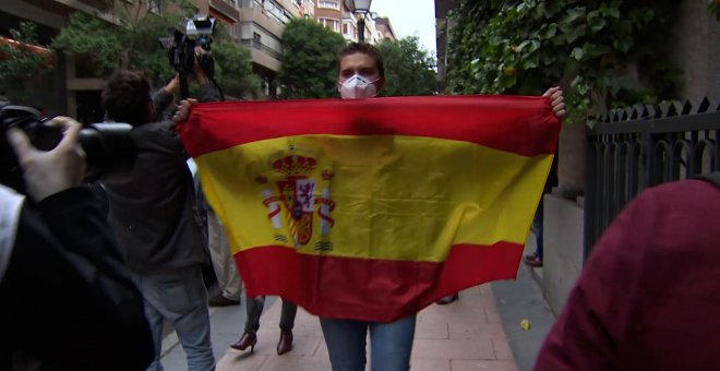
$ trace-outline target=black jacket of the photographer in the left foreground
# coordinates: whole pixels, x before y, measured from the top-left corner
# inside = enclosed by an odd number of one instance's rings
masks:
[[[145,370],[154,358],[143,298],[86,188],[22,208],[0,285],[0,370],[19,356],[81,371]]]

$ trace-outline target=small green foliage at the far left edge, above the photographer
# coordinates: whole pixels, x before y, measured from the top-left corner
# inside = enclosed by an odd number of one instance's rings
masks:
[[[37,26],[23,22],[20,29],[10,29],[16,41],[38,45]],[[23,101],[27,95],[27,82],[52,69],[51,56],[38,53],[28,47],[0,44],[0,95],[11,101]]]

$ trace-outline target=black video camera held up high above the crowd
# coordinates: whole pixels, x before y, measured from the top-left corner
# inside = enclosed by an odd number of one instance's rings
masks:
[[[180,94],[187,98],[188,74],[193,73],[195,64],[195,47],[200,46],[211,51],[213,44],[213,31],[215,19],[205,14],[195,14],[185,20],[184,31],[170,28],[172,36],[159,37],[160,46],[168,50],[168,59],[172,68],[180,74]],[[209,55],[202,55],[199,59],[200,67],[212,80],[215,74],[215,61]]]

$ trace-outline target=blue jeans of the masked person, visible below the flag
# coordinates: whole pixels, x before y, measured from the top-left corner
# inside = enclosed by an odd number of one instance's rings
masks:
[[[409,370],[415,321],[415,314],[389,323],[321,318],[320,325],[323,327],[333,371],[365,369],[368,330],[370,330],[370,370]]]

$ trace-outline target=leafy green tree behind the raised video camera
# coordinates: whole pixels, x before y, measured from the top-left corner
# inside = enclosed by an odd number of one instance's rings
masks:
[[[147,12],[147,9],[153,11]],[[172,36],[171,28],[180,27],[184,32],[187,19],[194,13],[193,3],[189,0],[112,0],[108,1],[107,10],[111,11],[117,25],[75,12],[53,39],[53,47],[91,60],[95,74],[100,77],[122,68],[145,71],[155,80],[169,80],[175,71],[158,37]],[[228,95],[255,96],[260,80],[252,74],[250,52],[235,43],[220,22],[216,23],[213,36],[211,48],[217,61],[218,84]]]

